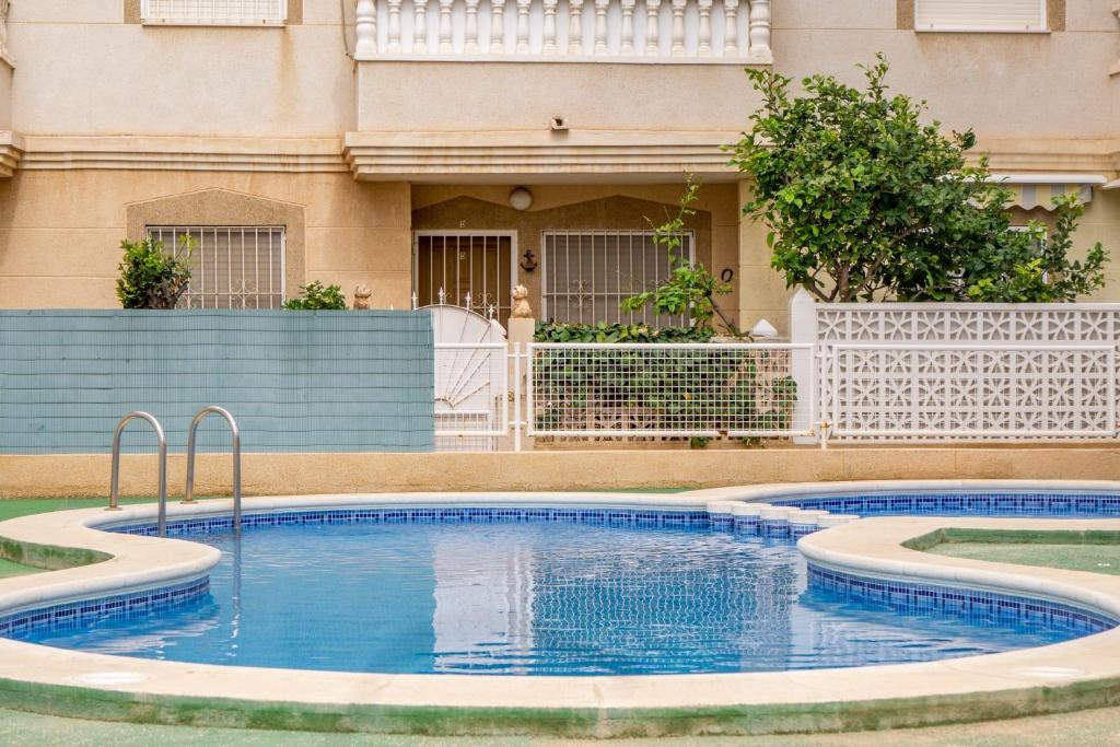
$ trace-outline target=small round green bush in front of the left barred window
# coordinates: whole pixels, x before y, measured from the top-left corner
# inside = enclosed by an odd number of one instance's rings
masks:
[[[124,259],[118,265],[116,298],[125,309],[174,309],[190,283],[189,258],[194,245],[183,237],[180,255],[169,254],[151,236],[122,241]]]

